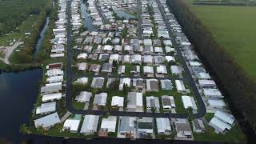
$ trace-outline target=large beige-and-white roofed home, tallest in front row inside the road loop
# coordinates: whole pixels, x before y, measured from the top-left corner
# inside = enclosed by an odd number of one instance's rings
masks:
[[[129,92],[127,100],[128,111],[143,112],[142,93]]]

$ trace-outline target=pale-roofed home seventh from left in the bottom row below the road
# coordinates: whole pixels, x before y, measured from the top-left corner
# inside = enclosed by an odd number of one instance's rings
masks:
[[[170,134],[171,126],[169,118],[156,118],[158,134]]]

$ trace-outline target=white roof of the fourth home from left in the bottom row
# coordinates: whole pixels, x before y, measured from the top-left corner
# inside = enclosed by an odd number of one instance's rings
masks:
[[[108,132],[115,132],[116,123],[117,123],[116,116],[109,116],[108,118],[102,118],[101,129],[107,130]]]

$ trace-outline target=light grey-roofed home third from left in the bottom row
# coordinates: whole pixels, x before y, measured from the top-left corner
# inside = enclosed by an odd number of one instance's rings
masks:
[[[82,122],[81,134],[94,134],[97,132],[99,115],[86,115]]]

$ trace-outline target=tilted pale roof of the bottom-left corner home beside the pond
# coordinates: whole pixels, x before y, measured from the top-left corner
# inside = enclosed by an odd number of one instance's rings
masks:
[[[61,120],[59,119],[58,114],[56,112],[54,114],[49,114],[45,117],[34,120],[34,126],[36,128],[38,128],[39,126],[42,126],[43,128],[49,128],[50,126],[54,126],[59,122],[61,122]]]

